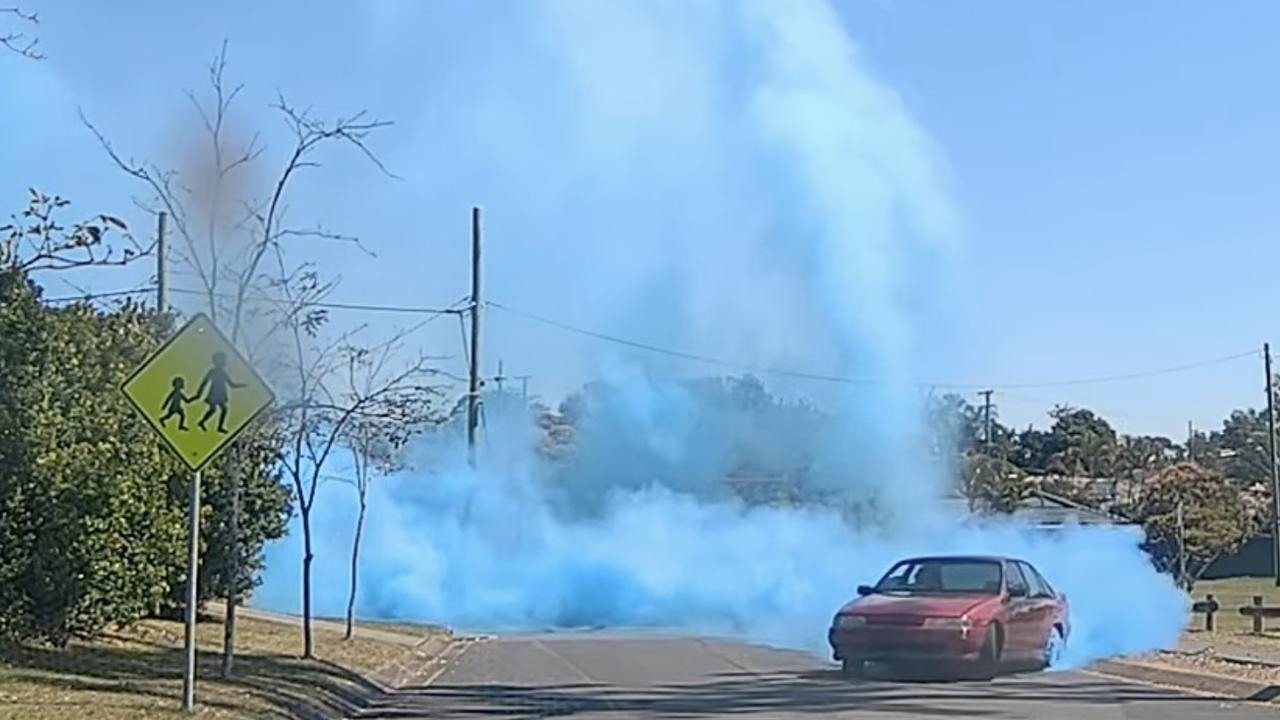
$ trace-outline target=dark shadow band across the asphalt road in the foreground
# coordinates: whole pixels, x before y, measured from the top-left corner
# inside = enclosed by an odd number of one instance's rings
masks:
[[[722,673],[708,682],[616,689],[596,684],[461,685],[404,688],[375,702],[361,719],[572,716],[618,714],[646,717],[718,717],[751,712],[812,714],[874,710],[904,717],[993,717],[1002,706],[1123,705],[1130,702],[1204,703],[1139,685],[1116,685],[1075,675],[1002,678],[996,682],[890,683],[849,680],[838,670],[804,673]],[[1025,710],[1025,707],[1023,708]],[[1206,717],[1212,715],[1206,715]]]

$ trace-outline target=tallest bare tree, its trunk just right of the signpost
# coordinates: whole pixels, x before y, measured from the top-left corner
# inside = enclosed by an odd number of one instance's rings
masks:
[[[198,154],[195,168],[187,172],[161,168],[154,163],[125,159],[113,147],[106,136],[87,118],[82,120],[97,137],[111,160],[124,173],[150,190],[151,197],[140,205],[148,211],[166,211],[173,220],[179,245],[175,259],[191,268],[200,283],[197,292],[210,316],[223,325],[250,357],[257,361],[261,350],[280,332],[287,331],[300,318],[294,304],[310,295],[288,295],[288,284],[276,282],[276,273],[264,272],[264,261],[271,254],[283,259],[282,245],[289,240],[329,240],[360,245],[353,236],[329,232],[320,225],[300,227],[287,219],[288,190],[292,182],[310,169],[320,168],[316,152],[328,145],[346,145],[367,158],[375,168],[389,177],[390,172],[366,145],[369,136],[390,123],[370,119],[361,110],[333,120],[315,118],[307,110],[298,110],[283,95],[271,109],[284,120],[289,131],[289,149],[283,165],[264,193],[255,193],[251,169],[261,160],[265,147],[259,135],[237,140],[232,129],[233,109],[243,85],[230,85],[225,79],[227,44],[207,69],[209,94],[201,100],[187,92],[204,128],[206,145]],[[361,246],[362,247],[362,246]],[[294,268],[294,279],[314,274],[307,266]],[[275,277],[275,279],[271,279]],[[317,286],[311,295],[323,295]],[[312,309],[314,310],[314,309]],[[248,327],[256,328],[256,337],[247,337]],[[239,497],[241,487],[236,462],[241,456],[239,443],[228,455],[228,478],[233,483],[229,512],[230,534],[234,538],[232,559],[239,557]],[[234,578],[227,588],[227,621],[224,628],[223,674],[229,675],[236,644],[236,609],[239,603]],[[310,653],[308,653],[310,655]]]

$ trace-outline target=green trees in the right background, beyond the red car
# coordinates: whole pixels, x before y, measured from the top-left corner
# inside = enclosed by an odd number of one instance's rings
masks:
[[[1190,587],[1215,560],[1270,532],[1270,428],[1265,411],[1233,410],[1220,428],[1183,442],[1130,436],[1069,405],[1048,429],[1009,428],[956,395],[931,401],[961,465],[961,491],[979,511],[1010,512],[1047,492],[1143,527],[1156,565]]]

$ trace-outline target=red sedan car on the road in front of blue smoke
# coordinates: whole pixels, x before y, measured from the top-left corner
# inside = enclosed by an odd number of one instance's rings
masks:
[[[992,678],[1005,662],[1053,664],[1070,633],[1066,596],[1011,557],[914,557],[860,585],[828,639],[846,674],[867,662],[961,662]]]

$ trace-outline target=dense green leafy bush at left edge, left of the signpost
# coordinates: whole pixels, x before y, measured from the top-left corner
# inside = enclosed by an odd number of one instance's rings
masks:
[[[0,270],[0,637],[61,644],[168,596],[186,474],[118,389],[166,331]]]

